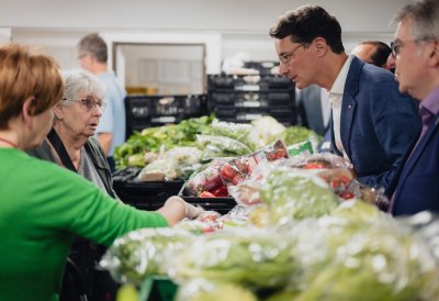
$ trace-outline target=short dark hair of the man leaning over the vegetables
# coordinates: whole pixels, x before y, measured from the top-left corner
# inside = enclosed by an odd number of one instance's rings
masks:
[[[291,36],[292,42],[305,44],[323,37],[334,53],[345,52],[340,23],[317,5],[303,5],[281,15],[278,23],[270,29],[270,35],[275,38]]]

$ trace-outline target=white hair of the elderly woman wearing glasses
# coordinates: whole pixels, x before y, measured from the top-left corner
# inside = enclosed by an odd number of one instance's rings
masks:
[[[89,71],[68,70],[63,73],[66,85],[61,104],[68,107],[70,101],[64,99],[78,99],[80,93],[93,96],[103,100],[105,98],[105,88],[103,83]]]

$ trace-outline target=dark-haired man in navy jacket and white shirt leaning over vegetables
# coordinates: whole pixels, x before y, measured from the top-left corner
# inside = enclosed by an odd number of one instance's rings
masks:
[[[316,5],[288,12],[270,30],[280,73],[297,88],[329,91],[331,150],[349,159],[359,181],[386,188],[420,130],[415,101],[392,73],[348,56],[336,18]]]

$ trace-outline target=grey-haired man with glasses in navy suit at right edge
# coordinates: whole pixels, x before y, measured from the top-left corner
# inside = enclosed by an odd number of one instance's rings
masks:
[[[392,43],[399,91],[420,100],[423,131],[389,188],[394,215],[439,212],[439,1],[404,7]],[[405,129],[402,129],[405,131]]]

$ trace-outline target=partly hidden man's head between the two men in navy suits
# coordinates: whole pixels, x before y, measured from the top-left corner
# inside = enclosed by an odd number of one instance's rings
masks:
[[[361,60],[384,69],[387,69],[386,63],[391,53],[391,47],[381,41],[360,42],[351,52]]]

